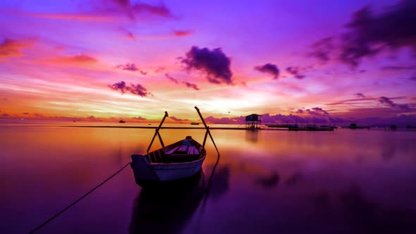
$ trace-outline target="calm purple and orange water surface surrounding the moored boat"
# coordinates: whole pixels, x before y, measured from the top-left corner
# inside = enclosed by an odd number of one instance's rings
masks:
[[[0,123],[1,233],[30,232],[145,152],[154,134],[60,125]],[[204,131],[161,135],[202,142]],[[126,168],[38,233],[416,233],[415,131],[212,135],[221,152],[212,183],[208,142],[189,187],[142,190]]]

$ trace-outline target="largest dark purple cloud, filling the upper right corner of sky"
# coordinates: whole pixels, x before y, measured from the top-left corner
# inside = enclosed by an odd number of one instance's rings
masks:
[[[309,56],[323,62],[334,58],[355,68],[363,58],[381,51],[408,47],[416,55],[416,1],[399,1],[385,9],[378,14],[372,12],[371,6],[356,11],[343,35],[312,44]]]

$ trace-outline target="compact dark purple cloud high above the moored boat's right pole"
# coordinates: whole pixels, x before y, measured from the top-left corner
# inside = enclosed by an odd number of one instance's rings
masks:
[[[183,58],[181,62],[185,64],[187,70],[195,69],[206,73],[209,82],[226,83],[227,85],[233,83],[230,58],[224,54],[221,48],[209,50],[194,46],[186,53],[186,58]]]

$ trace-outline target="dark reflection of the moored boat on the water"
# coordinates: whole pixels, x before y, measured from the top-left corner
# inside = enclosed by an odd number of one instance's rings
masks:
[[[188,180],[143,187],[135,199],[130,233],[181,233],[204,197],[204,172]]]

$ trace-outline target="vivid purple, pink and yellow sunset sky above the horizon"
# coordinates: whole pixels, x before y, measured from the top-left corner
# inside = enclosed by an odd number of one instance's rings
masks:
[[[0,3],[0,118],[416,125],[416,1]]]

